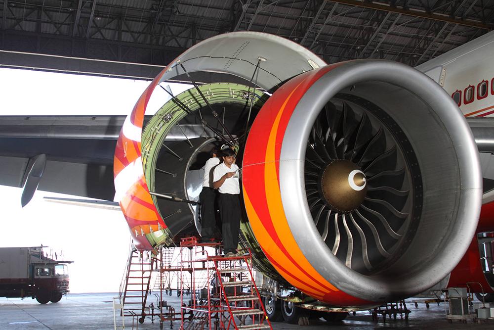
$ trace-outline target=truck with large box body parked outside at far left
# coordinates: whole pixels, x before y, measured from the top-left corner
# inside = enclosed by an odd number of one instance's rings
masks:
[[[48,258],[43,246],[0,247],[0,297],[59,302],[69,292],[70,263],[57,260],[56,253]]]

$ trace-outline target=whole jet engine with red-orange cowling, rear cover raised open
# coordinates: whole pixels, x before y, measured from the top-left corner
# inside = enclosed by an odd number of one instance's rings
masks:
[[[153,90],[184,77],[195,87],[143,130]],[[172,130],[183,139],[167,139]],[[319,301],[364,308],[412,296],[449,274],[474,235],[472,133],[451,97],[403,64],[326,65],[249,32],[187,50],[117,143],[116,190],[138,248],[196,233],[198,171],[213,143],[240,145],[241,244],[256,268]]]

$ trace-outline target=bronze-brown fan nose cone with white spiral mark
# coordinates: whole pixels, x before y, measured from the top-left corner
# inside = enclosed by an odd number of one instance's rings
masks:
[[[321,191],[329,206],[339,213],[355,210],[367,193],[367,179],[357,165],[336,159],[328,163],[321,176]]]

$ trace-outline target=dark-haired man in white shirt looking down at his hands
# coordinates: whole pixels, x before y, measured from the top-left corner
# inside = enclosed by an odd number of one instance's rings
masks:
[[[223,149],[221,152],[223,163],[214,168],[213,187],[219,191],[223,252],[225,257],[233,257],[237,254],[240,233],[239,167],[235,164],[235,152],[232,149]]]

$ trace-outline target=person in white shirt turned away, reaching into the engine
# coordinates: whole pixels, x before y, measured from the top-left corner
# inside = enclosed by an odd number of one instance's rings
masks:
[[[214,147],[211,150],[210,156],[203,166],[203,189],[199,194],[201,202],[201,242],[210,243],[216,227],[216,216],[214,210],[214,202],[216,200],[216,190],[213,188],[213,169],[220,163],[218,158],[219,149]]]

